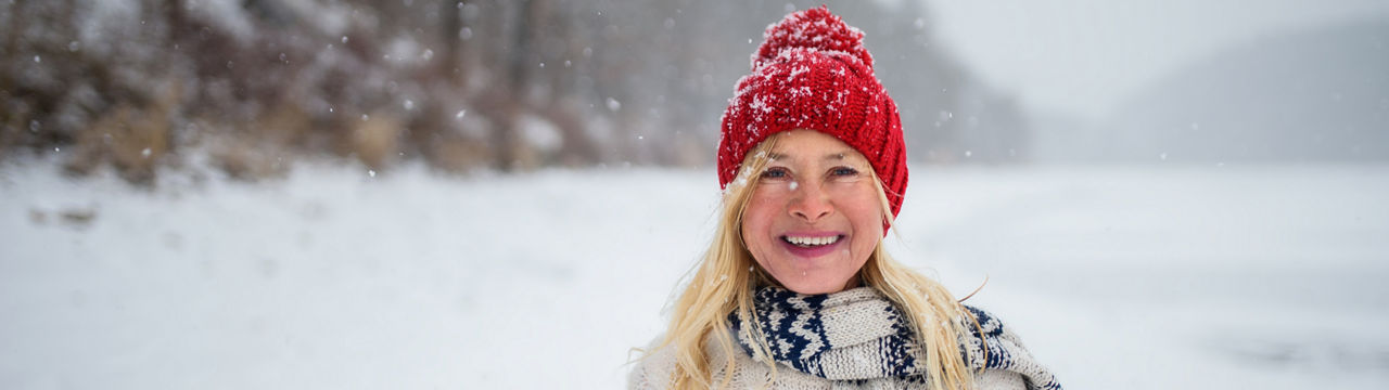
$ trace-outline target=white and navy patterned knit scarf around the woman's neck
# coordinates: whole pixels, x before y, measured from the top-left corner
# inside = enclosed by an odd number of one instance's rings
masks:
[[[897,378],[925,380],[924,361],[907,319],[878,290],[857,287],[832,294],[797,294],[767,286],[754,291],[756,321],[772,359],[831,380]],[[1028,389],[1060,390],[1061,384],[993,315],[964,307],[978,321],[961,337],[960,350],[972,369],[1003,369],[1022,375]],[[739,344],[757,361],[754,332],[729,315]],[[988,354],[985,354],[985,350]]]

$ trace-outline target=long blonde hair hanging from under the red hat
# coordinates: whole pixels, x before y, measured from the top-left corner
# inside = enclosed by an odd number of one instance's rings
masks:
[[[753,287],[775,283],[747,251],[740,230],[743,211],[751,197],[749,187],[767,168],[768,154],[775,147],[778,136],[779,133],[770,136],[743,160],[738,178],[724,192],[722,215],[714,239],[701,264],[693,269],[694,273],[689,278],[685,291],[674,303],[669,329],[656,347],[675,348],[671,389],[726,387],[732,380],[735,354],[742,353],[733,346],[729,332],[722,332],[731,328],[728,315],[756,318]],[[890,222],[892,212],[882,183],[876,175],[872,182],[882,201],[883,215]],[[925,358],[925,376],[932,387],[972,387],[974,376],[961,358],[957,344],[958,336],[967,332],[963,322],[965,311],[945,286],[892,260],[883,251],[882,240],[858,271],[858,276],[910,319],[920,347],[918,357]],[[756,321],[751,323],[753,339],[758,340],[756,348],[761,355],[770,357],[770,347],[761,341],[763,330]],[[710,354],[706,353],[707,337],[713,337],[714,346],[724,351],[722,362],[710,361]],[[713,378],[714,364],[726,368],[721,379]],[[775,380],[776,364],[772,361],[767,364]]]

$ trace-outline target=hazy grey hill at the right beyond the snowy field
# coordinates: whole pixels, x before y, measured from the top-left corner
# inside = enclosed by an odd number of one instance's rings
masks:
[[[1389,161],[1389,17],[1221,50],[1114,112],[1101,160]]]

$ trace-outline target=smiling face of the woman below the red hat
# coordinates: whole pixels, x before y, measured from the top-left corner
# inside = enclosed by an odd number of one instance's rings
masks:
[[[853,147],[815,130],[782,133],[751,185],[743,243],[757,264],[801,294],[854,286],[882,239],[872,167]]]

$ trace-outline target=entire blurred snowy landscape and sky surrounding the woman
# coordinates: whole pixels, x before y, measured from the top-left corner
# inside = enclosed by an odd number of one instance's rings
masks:
[[[1389,383],[1389,3],[0,1],[0,387],[613,389],[828,3],[1068,389]]]

